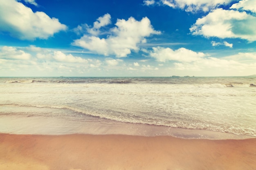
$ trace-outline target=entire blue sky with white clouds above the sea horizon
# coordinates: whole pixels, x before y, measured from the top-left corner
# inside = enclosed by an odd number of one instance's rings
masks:
[[[256,0],[0,0],[0,77],[256,74]]]

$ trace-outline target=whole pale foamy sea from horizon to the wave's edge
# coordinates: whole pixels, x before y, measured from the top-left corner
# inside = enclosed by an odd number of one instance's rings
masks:
[[[0,77],[0,96],[2,117],[99,119],[256,136],[256,77]]]

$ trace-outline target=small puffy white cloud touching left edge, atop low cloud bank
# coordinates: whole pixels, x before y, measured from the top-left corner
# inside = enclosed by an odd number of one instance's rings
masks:
[[[25,53],[12,46],[3,46],[0,51],[0,58],[4,59],[29,60],[30,57],[29,53]]]

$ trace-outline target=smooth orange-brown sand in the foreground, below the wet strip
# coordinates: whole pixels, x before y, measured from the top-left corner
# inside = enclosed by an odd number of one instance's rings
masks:
[[[256,170],[256,138],[0,134],[0,170]]]

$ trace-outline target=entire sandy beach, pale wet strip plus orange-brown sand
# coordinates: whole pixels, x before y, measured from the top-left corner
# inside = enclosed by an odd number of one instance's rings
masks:
[[[255,170],[255,146],[210,130],[0,116],[0,170]]]

